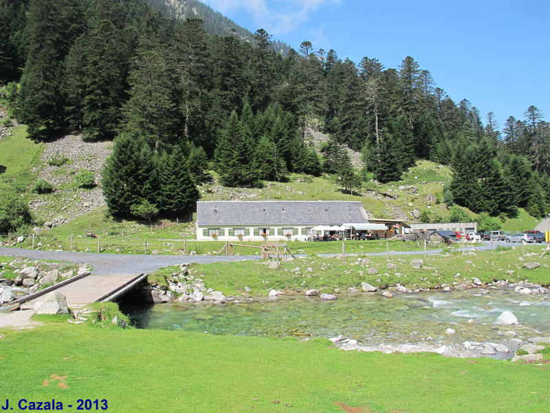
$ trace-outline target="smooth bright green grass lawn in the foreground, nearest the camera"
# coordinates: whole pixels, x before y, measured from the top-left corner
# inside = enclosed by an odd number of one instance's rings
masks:
[[[106,399],[109,411],[131,413],[550,410],[541,365],[88,324],[0,337],[2,405],[9,399],[14,411],[19,399],[55,399],[64,410]]]

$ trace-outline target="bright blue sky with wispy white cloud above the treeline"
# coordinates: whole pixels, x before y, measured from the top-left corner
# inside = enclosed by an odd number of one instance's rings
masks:
[[[470,100],[502,129],[535,105],[550,121],[548,0],[203,0],[255,32],[298,50],[335,50],[397,68],[406,56],[458,103]]]

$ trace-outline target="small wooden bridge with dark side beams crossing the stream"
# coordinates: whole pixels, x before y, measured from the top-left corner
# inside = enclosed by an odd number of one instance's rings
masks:
[[[146,279],[146,274],[86,275],[72,277],[37,293],[12,301],[10,304],[34,304],[52,291],[65,295],[67,306],[79,306],[95,301],[113,301]]]

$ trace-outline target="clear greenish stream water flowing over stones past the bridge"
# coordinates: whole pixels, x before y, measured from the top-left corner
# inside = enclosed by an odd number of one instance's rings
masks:
[[[222,335],[284,337],[345,337],[363,343],[418,343],[437,340],[502,341],[500,332],[514,330],[518,338],[550,335],[550,300],[544,295],[522,296],[510,289],[454,290],[450,293],[352,293],[336,301],[303,295],[256,297],[217,305],[157,304],[122,308],[138,328],[186,330]],[[508,310],[522,326],[494,326]],[[468,322],[474,320],[475,322]],[[446,335],[453,328],[456,335]]]

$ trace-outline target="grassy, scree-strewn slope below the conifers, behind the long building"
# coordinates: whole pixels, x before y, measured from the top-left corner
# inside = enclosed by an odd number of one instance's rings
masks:
[[[58,228],[50,230],[52,245],[57,237],[65,234],[67,240],[59,244],[67,246],[69,233],[83,235],[86,229],[94,229],[101,234],[106,231],[112,236],[122,234],[124,229],[125,235],[141,233],[142,237],[159,240],[193,236],[190,217],[182,217],[179,225],[164,222],[164,230],[159,232],[162,222],[155,222],[155,231],[146,231],[149,224],[120,222],[106,216],[100,188],[100,169],[111,151],[111,143],[85,143],[78,136],[36,143],[26,138],[23,126],[11,128],[10,133],[12,136],[0,140],[0,191],[12,188],[23,194],[29,200],[39,225],[54,218],[69,221],[66,224],[61,222]],[[60,158],[65,160],[56,162]],[[82,169],[94,172],[97,187],[78,187],[75,179]],[[393,218],[406,222],[417,222],[416,217],[422,211],[430,211],[443,217],[443,220],[448,220],[450,214],[442,198],[444,185],[450,183],[451,171],[446,166],[426,160],[408,169],[399,182],[364,182],[363,187],[353,193],[344,191],[329,176],[317,178],[290,174],[287,182],[266,182],[262,189],[241,189],[219,186],[216,173],[210,173],[212,181],[200,187],[201,200],[356,200],[363,202],[371,218]],[[32,192],[39,179],[52,183],[54,192]],[[466,212],[474,218],[475,214]],[[536,218],[520,210],[517,218],[503,222],[503,229],[533,229],[537,223]],[[90,247],[86,245],[85,248]]]

